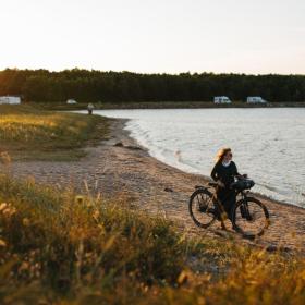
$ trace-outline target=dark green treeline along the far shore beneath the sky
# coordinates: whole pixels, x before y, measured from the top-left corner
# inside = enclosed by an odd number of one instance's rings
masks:
[[[0,71],[0,96],[19,95],[27,101],[210,101],[213,96],[245,100],[305,101],[305,75],[138,74],[87,70]]]

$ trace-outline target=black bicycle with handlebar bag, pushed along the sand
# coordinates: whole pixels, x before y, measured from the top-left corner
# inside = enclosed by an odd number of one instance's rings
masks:
[[[252,239],[261,236],[270,224],[267,207],[257,198],[248,195],[254,185],[253,180],[240,176],[231,184],[231,187],[235,191],[236,202],[229,216],[232,229],[244,237]],[[195,186],[195,192],[191,195],[190,215],[199,228],[207,229],[216,220],[219,220],[225,229],[227,213],[217,198],[216,192],[210,192],[211,187],[216,190],[219,184],[216,182],[209,182],[207,186]],[[237,200],[239,195],[241,198]]]

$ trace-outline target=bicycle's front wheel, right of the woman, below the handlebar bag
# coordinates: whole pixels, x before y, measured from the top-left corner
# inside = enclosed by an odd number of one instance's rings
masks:
[[[268,209],[254,197],[241,199],[232,210],[232,224],[245,237],[261,236],[269,227]]]

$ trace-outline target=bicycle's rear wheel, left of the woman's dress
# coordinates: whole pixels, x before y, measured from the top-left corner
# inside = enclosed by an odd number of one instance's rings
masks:
[[[188,211],[196,225],[210,227],[217,219],[212,194],[207,188],[196,190],[190,198]]]

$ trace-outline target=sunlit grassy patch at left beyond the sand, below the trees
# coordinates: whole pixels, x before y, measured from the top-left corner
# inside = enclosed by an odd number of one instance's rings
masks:
[[[73,160],[107,136],[107,120],[34,106],[0,106],[0,149],[15,159]],[[1,152],[0,151],[0,152]]]

